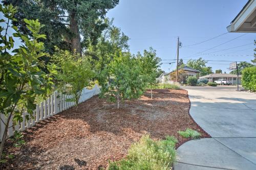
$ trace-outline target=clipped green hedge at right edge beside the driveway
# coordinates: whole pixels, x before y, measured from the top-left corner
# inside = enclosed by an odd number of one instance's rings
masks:
[[[247,67],[242,71],[242,85],[245,89],[256,91],[256,67]]]

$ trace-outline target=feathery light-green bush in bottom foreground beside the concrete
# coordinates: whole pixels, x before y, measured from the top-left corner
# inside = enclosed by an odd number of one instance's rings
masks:
[[[170,169],[175,160],[177,139],[166,136],[165,140],[154,141],[149,135],[132,144],[127,159],[110,162],[109,170]]]

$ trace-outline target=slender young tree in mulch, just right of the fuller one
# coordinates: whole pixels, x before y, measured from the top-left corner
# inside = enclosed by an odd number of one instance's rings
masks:
[[[157,84],[157,73],[161,59],[156,56],[156,50],[150,47],[150,51],[144,50],[143,56],[138,53],[137,58],[140,61],[142,74],[145,75],[148,87],[151,89],[151,99],[153,99],[152,88]]]

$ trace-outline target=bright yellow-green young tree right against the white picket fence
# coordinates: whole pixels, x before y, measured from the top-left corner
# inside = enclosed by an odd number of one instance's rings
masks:
[[[77,106],[82,89],[89,86],[94,77],[90,63],[85,58],[80,58],[75,52],[70,53],[58,48],[51,59],[59,66],[56,76],[59,91],[72,95],[69,101],[75,102]]]

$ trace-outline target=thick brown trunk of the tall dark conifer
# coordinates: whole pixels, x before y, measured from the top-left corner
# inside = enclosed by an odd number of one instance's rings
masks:
[[[79,34],[79,29],[78,29],[78,23],[75,18],[75,12],[70,13],[70,29],[72,33],[74,34],[73,37],[71,38],[71,50],[82,55],[82,50],[81,50],[81,38]]]

